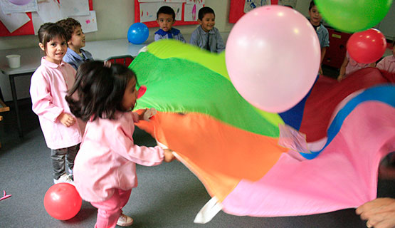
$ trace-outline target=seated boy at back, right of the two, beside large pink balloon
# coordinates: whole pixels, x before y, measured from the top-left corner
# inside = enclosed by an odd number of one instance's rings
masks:
[[[214,10],[205,6],[199,10],[198,17],[200,26],[192,32],[189,43],[211,52],[220,53],[224,51],[225,44],[221,34],[218,28],[214,27],[216,24]]]

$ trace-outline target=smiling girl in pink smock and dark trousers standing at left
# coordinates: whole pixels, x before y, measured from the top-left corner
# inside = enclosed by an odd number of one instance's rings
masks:
[[[41,66],[31,77],[33,112],[38,115],[46,144],[51,148],[53,182],[73,184],[73,166],[82,139],[76,118],[65,100],[75,81],[75,69],[62,59],[67,51],[67,33],[53,23],[38,30],[40,48],[45,52]],[[65,161],[70,175],[65,173]]]

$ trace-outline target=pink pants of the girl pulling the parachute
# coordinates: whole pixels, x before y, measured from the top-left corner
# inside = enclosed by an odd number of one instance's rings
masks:
[[[110,199],[103,202],[90,202],[93,207],[98,208],[98,219],[95,228],[110,228],[117,225],[118,218],[122,213],[122,207],[125,206],[130,197],[132,190],[115,190]]]

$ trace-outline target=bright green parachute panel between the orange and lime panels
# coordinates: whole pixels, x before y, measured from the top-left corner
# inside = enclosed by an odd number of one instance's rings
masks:
[[[130,68],[139,84],[147,86],[147,92],[137,100],[137,109],[204,113],[252,133],[279,136],[278,125],[260,115],[228,79],[198,63],[181,58],[161,59],[146,52],[139,53]]]

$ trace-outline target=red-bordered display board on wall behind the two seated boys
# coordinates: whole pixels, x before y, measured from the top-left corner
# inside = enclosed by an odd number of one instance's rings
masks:
[[[174,26],[199,24],[197,14],[204,6],[204,0],[135,0],[135,22],[147,27],[159,27],[157,11],[162,6],[170,6],[176,14]]]

